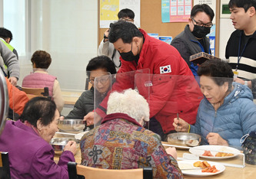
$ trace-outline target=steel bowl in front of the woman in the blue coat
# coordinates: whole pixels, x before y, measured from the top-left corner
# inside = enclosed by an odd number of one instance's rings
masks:
[[[177,132],[169,134],[167,141],[171,145],[197,146],[201,142],[201,136],[194,133]]]

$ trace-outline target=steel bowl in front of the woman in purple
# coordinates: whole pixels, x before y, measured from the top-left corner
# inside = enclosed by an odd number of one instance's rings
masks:
[[[79,147],[80,141],[75,138],[52,138],[50,145],[55,151],[63,151],[68,141],[75,141],[77,148]]]

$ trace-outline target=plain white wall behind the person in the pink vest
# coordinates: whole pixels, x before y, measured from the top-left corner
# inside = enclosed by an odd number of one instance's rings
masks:
[[[31,52],[46,50],[52,56],[48,72],[62,89],[84,89],[85,68],[98,50],[98,1],[31,1]],[[21,63],[22,79],[32,71],[31,54]]]

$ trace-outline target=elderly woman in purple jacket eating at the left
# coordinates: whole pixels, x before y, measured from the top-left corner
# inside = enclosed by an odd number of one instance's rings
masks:
[[[68,178],[68,161],[75,161],[75,142],[68,142],[55,164],[49,145],[58,131],[59,112],[51,99],[28,101],[17,122],[7,121],[0,137],[0,151],[9,155],[12,178]]]

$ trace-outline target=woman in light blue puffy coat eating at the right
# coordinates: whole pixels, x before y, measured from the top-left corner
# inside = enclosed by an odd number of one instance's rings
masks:
[[[208,60],[198,69],[204,99],[197,120],[189,125],[175,119],[176,131],[198,133],[202,144],[229,145],[240,148],[240,138],[256,130],[256,106],[251,90],[232,83],[233,72],[224,60]]]

